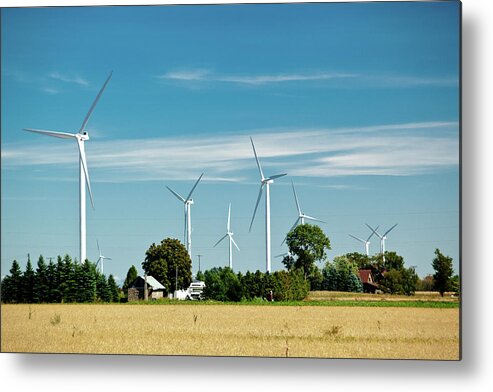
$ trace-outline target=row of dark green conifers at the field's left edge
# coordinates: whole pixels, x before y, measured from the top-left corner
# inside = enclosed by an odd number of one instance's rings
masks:
[[[73,261],[69,255],[46,263],[39,256],[36,269],[28,256],[26,268],[21,270],[17,260],[12,262],[10,274],[1,282],[4,303],[67,303],[117,302],[120,290],[113,275],[108,278],[97,271],[96,265]]]

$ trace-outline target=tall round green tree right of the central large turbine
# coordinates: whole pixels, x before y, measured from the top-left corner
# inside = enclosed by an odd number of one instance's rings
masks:
[[[298,225],[291,230],[286,243],[293,255],[293,268],[301,269],[305,279],[311,274],[315,262],[326,257],[326,249],[330,249],[330,240],[322,229],[316,225]]]

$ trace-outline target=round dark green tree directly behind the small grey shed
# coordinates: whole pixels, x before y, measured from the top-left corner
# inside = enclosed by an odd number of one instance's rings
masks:
[[[192,282],[192,260],[177,239],[166,238],[159,245],[152,244],[146,252],[142,268],[168,291],[170,288],[185,289]]]

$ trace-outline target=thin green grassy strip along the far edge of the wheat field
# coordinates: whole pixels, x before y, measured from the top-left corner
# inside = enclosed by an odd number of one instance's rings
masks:
[[[176,300],[158,300],[149,302],[128,302],[128,304],[143,305],[238,305],[238,306],[346,306],[346,307],[379,307],[379,308],[458,308],[459,302],[443,301],[284,301],[284,302],[267,302],[267,301],[242,301],[242,302],[220,302],[220,301],[176,301]]]

